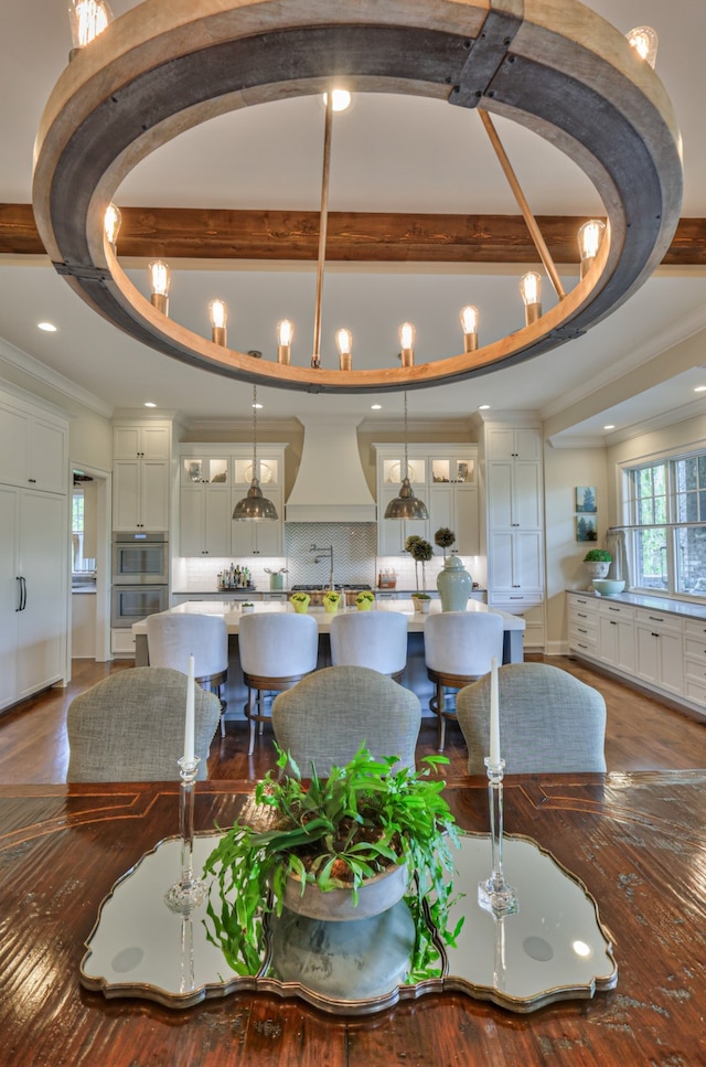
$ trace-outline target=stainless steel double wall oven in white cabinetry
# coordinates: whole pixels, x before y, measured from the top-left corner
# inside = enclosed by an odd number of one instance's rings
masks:
[[[113,535],[113,627],[169,607],[169,541],[165,533],[124,531]]]

